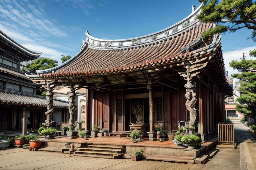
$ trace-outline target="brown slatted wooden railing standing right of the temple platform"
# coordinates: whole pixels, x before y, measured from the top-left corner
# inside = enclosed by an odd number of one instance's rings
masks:
[[[235,145],[234,124],[218,124],[219,144]]]

